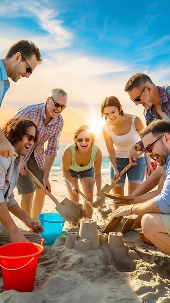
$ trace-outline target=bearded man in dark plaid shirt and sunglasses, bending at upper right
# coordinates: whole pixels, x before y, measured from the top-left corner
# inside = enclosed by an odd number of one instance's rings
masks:
[[[125,91],[136,106],[144,107],[146,125],[155,119],[170,121],[170,86],[156,86],[149,76],[137,73],[128,79]],[[136,165],[137,151],[142,149],[142,141],[132,146],[129,163]]]

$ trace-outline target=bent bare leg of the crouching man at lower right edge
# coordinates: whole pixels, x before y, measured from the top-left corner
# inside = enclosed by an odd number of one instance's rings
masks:
[[[141,220],[142,230],[147,239],[165,254],[170,255],[170,236],[158,213],[146,213]]]

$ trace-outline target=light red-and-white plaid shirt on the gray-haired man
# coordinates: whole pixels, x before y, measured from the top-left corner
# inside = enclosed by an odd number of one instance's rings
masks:
[[[40,170],[44,169],[45,154],[57,156],[59,138],[64,124],[63,119],[59,114],[44,126],[43,119],[47,119],[45,115],[45,105],[46,103],[23,106],[15,115],[15,117],[23,117],[33,120],[38,125],[39,142],[36,147],[34,145],[28,150],[26,156],[23,157],[23,160],[27,162],[34,150],[35,161],[37,162]],[[44,143],[47,140],[47,149],[44,151]]]

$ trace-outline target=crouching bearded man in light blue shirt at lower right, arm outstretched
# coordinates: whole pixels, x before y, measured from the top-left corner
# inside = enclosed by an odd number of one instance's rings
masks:
[[[143,145],[148,156],[152,156],[161,167],[167,165],[166,180],[161,193],[150,200],[119,206],[113,218],[137,214],[142,216],[143,242],[154,244],[170,255],[170,123],[164,120],[151,122],[141,132]],[[120,203],[120,202],[119,202]],[[117,201],[117,206],[118,201]]]

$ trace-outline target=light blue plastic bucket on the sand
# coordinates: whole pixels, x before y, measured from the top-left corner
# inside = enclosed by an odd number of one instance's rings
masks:
[[[44,228],[44,232],[40,233],[45,240],[44,244],[52,245],[57,237],[61,236],[65,220],[55,212],[41,213],[38,218]]]

